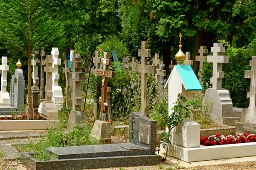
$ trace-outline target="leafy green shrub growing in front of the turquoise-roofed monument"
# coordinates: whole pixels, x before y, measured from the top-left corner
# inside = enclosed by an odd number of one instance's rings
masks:
[[[191,99],[187,101],[187,99],[183,97],[182,94],[178,94],[177,101],[175,102],[175,104],[176,105],[171,109],[173,110],[173,112],[170,115],[168,114],[166,107],[163,106],[158,109],[159,113],[163,117],[163,121],[161,123],[162,127],[168,127],[168,134],[165,132],[161,136],[163,141],[163,148],[165,148],[167,145],[166,157],[162,158],[163,161],[166,161],[169,144],[172,144],[169,140],[171,130],[175,128],[177,125],[179,125],[180,122],[182,122],[183,120],[190,118],[190,114],[193,113],[192,106],[194,108],[198,107],[198,105],[200,104],[200,100]],[[167,104],[164,103],[163,105]]]

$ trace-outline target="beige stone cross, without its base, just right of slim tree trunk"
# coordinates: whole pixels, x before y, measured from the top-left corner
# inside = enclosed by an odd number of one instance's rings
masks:
[[[46,80],[45,80],[45,101],[51,102],[52,101],[52,73],[54,73],[54,67],[52,67],[53,58],[52,55],[47,55],[46,59],[46,67],[44,71],[46,72]]]

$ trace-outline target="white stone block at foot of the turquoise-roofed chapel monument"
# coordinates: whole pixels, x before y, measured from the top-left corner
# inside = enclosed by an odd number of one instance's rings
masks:
[[[200,125],[182,122],[171,131],[170,142],[185,148],[200,147]]]

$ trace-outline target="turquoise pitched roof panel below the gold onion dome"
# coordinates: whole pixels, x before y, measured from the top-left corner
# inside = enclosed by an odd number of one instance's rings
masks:
[[[183,65],[183,67],[175,65],[174,67],[180,74],[180,78],[186,91],[200,91],[203,89],[190,65]]]

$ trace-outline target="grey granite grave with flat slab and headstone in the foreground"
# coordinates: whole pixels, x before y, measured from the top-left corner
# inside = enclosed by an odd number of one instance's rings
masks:
[[[140,113],[131,113],[130,143],[74,147],[52,147],[46,151],[54,158],[39,161],[32,153],[21,153],[26,166],[36,170],[72,170],[108,167],[154,165],[160,163],[155,155],[156,121]]]

